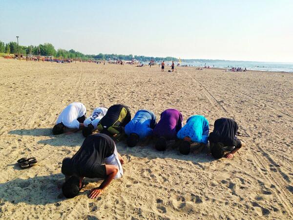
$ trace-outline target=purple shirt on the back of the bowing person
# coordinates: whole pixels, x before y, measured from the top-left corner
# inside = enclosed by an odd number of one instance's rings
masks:
[[[182,114],[176,109],[167,109],[161,113],[161,119],[153,130],[157,137],[166,139],[176,138],[177,132],[182,128]]]

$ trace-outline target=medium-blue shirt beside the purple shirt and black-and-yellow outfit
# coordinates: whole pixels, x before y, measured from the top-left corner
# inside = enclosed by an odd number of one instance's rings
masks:
[[[132,120],[125,126],[125,133],[130,135],[136,133],[140,140],[152,135],[153,128],[156,125],[156,115],[149,110],[139,110]]]

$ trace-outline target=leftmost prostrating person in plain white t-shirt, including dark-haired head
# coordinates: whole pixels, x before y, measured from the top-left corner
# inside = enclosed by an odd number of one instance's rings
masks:
[[[84,127],[86,109],[84,104],[74,102],[68,105],[59,115],[53,134],[62,134],[65,131],[75,132]]]

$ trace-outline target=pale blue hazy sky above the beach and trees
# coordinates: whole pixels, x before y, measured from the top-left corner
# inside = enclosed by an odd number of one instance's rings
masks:
[[[293,63],[293,0],[0,0],[0,41]]]

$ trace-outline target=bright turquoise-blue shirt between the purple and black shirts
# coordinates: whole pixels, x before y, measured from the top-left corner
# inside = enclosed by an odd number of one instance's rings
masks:
[[[179,139],[190,137],[193,142],[208,143],[209,121],[202,115],[188,118],[186,125],[177,133]]]

